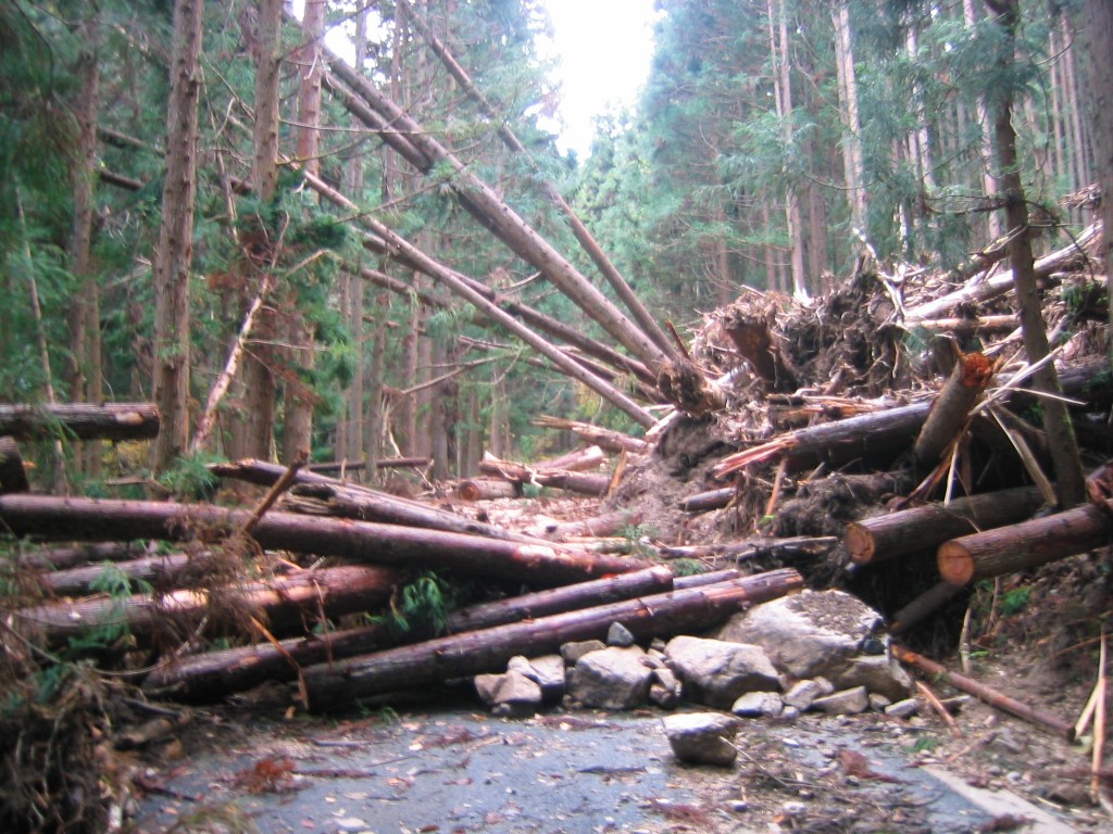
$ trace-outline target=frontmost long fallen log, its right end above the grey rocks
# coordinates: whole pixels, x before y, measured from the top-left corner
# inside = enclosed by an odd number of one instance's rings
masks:
[[[775,570],[466,632],[352,658],[344,664],[312,666],[305,671],[304,692],[311,709],[348,707],[367,696],[501,672],[518,654],[544,654],[555,652],[569,641],[603,638],[615,622],[639,638],[705,629],[747,605],[775,599],[802,586],[804,579],[796,570]]]

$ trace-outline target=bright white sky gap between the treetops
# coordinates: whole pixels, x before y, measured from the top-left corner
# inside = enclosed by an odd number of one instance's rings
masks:
[[[632,107],[653,57],[653,0],[544,0],[562,83],[558,146],[588,156],[593,119]]]

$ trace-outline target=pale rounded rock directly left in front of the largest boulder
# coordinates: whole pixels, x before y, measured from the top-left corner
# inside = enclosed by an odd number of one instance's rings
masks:
[[[700,637],[673,637],[664,649],[688,697],[729,709],[748,692],[781,689],[780,676],[758,646]]]

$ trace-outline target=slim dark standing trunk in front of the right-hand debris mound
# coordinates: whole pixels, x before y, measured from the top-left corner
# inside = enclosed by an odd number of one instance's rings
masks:
[[[1016,71],[1013,66],[1013,46],[1016,40],[1016,28],[1020,26],[1020,0],[993,0],[991,8],[1001,9],[997,22],[1004,29],[1007,50],[997,59],[997,66],[1003,77],[1009,77]],[[1030,363],[1038,363],[1048,353],[1047,328],[1040,304],[1040,290],[1036,286],[1028,207],[1021,181],[1016,132],[1013,129],[1012,116],[1012,88],[1008,85],[1002,85],[997,99],[994,101],[997,181],[1001,195],[1005,200],[1006,221],[1012,231],[1008,257],[1013,267],[1013,287],[1020,308],[1024,350]],[[1064,508],[1073,507],[1085,498],[1085,478],[1082,474],[1074,429],[1071,426],[1071,416],[1067,413],[1066,404],[1057,398],[1062,396],[1062,390],[1055,366],[1046,363],[1036,371],[1033,380],[1035,387],[1050,395],[1043,398],[1040,405],[1043,413],[1044,430],[1047,434],[1047,447],[1055,465],[1060,505]]]

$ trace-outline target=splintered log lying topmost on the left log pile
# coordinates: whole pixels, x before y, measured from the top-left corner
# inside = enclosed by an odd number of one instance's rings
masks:
[[[286,467],[246,459],[235,464],[214,464],[209,467],[209,471],[221,478],[238,478],[249,484],[272,486],[286,471]],[[321,504],[303,505],[302,508],[305,512],[311,512],[314,515],[336,515],[345,518],[357,518],[361,522],[398,524],[406,527],[463,533],[513,542],[528,540],[524,536],[518,536],[493,525],[473,522],[470,518],[457,516],[455,513],[430,507],[421,502],[315,473],[304,470],[297,473],[294,477],[294,484],[292,489],[294,495],[316,498],[318,502],[326,503],[326,507],[322,507]]]

